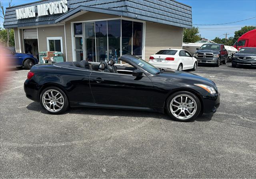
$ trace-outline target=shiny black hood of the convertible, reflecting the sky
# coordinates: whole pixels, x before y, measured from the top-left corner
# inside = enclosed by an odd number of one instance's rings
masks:
[[[204,78],[202,76],[198,76],[196,74],[192,74],[188,72],[180,72],[180,71],[175,71],[171,69],[164,69],[164,72],[158,75],[163,78],[181,78],[184,80],[189,80],[194,84],[195,83],[204,84],[216,89],[216,84],[212,80],[209,80],[208,78]]]

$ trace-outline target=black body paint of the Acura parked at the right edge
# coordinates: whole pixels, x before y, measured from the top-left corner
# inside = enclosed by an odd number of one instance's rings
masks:
[[[241,51],[241,49],[240,49]],[[232,64],[233,65],[246,65],[246,66],[252,66],[256,67],[256,58],[253,58],[251,60],[240,60],[238,59],[239,57],[256,57],[256,54],[244,54],[244,53],[239,53],[238,51],[236,54],[234,54],[232,58]]]

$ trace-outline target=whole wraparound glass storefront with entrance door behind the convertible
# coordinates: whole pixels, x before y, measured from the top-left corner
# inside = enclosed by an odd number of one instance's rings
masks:
[[[141,22],[108,20],[76,23],[74,33],[77,61],[100,62],[114,58],[119,63],[121,54],[133,54],[142,58]]]

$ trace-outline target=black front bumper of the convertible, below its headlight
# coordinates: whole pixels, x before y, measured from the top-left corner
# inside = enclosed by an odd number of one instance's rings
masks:
[[[202,97],[203,115],[215,113],[220,106],[220,93],[215,95],[207,95]]]

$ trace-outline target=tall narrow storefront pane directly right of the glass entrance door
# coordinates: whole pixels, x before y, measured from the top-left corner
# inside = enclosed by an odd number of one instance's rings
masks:
[[[96,62],[94,22],[84,23],[86,39],[86,60]]]

